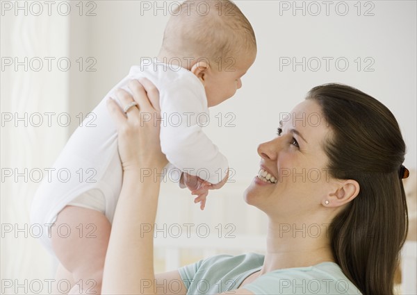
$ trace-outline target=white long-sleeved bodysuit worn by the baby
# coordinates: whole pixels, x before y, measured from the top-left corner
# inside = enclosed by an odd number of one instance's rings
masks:
[[[117,130],[108,114],[106,100],[109,96],[115,99],[118,88],[130,92],[127,84],[140,77],[148,78],[159,90],[161,149],[170,161],[168,166],[177,167],[175,171],[167,171],[170,178],[178,181],[179,170],[209,183],[219,183],[226,176],[227,159],[203,132],[209,119],[202,82],[183,67],[163,63],[133,66],[129,75],[108,92],[92,110],[92,115],[74,131],[54,163],[51,177],[42,180],[33,198],[32,224],[53,224],[65,205],[90,189],[104,195],[106,217],[113,221],[122,187],[122,164],[117,151]],[[142,116],[145,120],[156,120],[153,114]],[[150,172],[144,171],[143,177],[154,177],[153,172],[147,176]],[[47,231],[44,230],[40,239],[51,251]]]

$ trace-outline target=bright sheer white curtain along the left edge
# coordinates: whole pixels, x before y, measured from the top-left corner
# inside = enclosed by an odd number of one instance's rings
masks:
[[[55,269],[51,255],[36,238],[44,228],[29,224],[31,200],[42,174],[47,177],[44,168],[51,167],[69,135],[67,128],[56,121],[58,115],[69,112],[68,72],[57,71],[56,67],[49,71],[44,58],[57,60],[69,56],[70,22],[60,15],[24,15],[24,10],[8,13],[3,10],[6,7],[3,3],[0,24],[0,292],[31,294],[38,289],[38,280],[45,283],[44,280],[54,278],[51,273]],[[15,58],[22,62],[17,69]],[[10,60],[13,64],[9,66]],[[32,70],[41,67],[39,60],[45,62],[43,70]],[[47,291],[47,285],[42,291]]]

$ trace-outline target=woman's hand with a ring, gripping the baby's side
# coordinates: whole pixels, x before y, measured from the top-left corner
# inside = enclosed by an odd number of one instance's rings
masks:
[[[129,89],[133,96],[124,90],[116,93],[123,108],[133,101],[138,103],[126,115],[113,99],[107,101],[117,128],[123,171],[152,169],[154,173],[156,169],[160,173],[167,165],[167,158],[159,140],[159,92],[147,78],[130,81]]]

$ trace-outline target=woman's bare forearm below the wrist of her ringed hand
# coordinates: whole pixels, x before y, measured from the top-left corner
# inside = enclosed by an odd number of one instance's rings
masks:
[[[160,181],[125,171],[104,266],[102,294],[140,294],[154,284],[154,223]]]

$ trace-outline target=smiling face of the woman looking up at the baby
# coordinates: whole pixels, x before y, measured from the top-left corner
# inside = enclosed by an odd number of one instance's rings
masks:
[[[281,217],[319,208],[332,185],[323,149],[331,133],[316,101],[295,106],[277,137],[259,145],[260,172],[245,190],[245,201]]]

